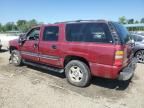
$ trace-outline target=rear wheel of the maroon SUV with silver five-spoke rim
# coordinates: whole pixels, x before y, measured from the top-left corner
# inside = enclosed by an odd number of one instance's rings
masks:
[[[70,61],[65,67],[67,81],[78,87],[85,87],[91,79],[89,67],[79,60]]]

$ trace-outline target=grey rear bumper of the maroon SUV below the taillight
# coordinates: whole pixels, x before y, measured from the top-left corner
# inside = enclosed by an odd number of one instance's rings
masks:
[[[122,81],[129,80],[133,76],[136,66],[137,66],[137,59],[133,58],[131,63],[120,72],[118,80]]]

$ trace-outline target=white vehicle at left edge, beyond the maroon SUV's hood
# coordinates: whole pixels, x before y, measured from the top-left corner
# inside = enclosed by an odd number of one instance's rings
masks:
[[[19,36],[17,35],[12,35],[12,34],[0,34],[0,40],[3,49],[8,49],[9,48],[9,41],[13,39],[18,39]]]

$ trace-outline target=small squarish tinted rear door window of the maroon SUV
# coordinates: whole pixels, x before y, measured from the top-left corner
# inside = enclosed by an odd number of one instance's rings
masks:
[[[48,26],[44,29],[43,40],[44,41],[58,41],[59,27]]]

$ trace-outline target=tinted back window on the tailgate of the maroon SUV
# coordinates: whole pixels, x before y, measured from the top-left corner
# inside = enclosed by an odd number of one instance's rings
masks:
[[[128,30],[121,25],[120,23],[113,22],[113,25],[120,36],[120,40],[122,43],[128,43],[132,40],[131,35],[129,34]]]

